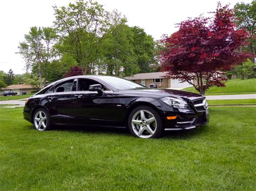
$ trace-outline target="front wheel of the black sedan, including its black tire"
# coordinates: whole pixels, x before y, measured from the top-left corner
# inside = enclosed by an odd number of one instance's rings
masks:
[[[156,110],[149,106],[139,106],[132,110],[128,127],[134,137],[159,138],[163,133],[163,122]]]

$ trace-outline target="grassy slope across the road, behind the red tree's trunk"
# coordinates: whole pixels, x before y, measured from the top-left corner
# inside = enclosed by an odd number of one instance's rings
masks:
[[[241,80],[228,80],[226,87],[211,87],[205,95],[235,95],[235,94],[256,94],[256,78]],[[185,88],[184,91],[198,93],[194,87]]]

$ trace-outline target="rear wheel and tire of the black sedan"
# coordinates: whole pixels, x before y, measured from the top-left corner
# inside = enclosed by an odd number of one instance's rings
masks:
[[[48,112],[39,108],[33,115],[33,125],[38,131],[48,131],[51,129],[51,121]]]

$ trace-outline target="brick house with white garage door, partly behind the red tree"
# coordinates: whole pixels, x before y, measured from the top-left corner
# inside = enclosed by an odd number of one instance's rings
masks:
[[[158,88],[187,88],[192,86],[187,82],[180,83],[180,80],[165,77],[166,74],[167,72],[140,73],[125,77],[125,79],[143,84],[146,87],[150,87],[151,83],[157,84]]]

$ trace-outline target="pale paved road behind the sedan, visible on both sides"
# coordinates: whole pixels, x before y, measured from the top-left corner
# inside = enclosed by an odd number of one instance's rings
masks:
[[[242,94],[242,95],[217,95],[217,96],[205,96],[206,100],[240,100],[240,99],[256,99],[256,94]],[[18,104],[12,106],[6,106],[4,108],[16,108],[24,107],[25,100],[10,100],[0,101],[0,104]]]

